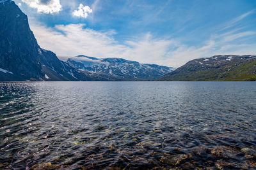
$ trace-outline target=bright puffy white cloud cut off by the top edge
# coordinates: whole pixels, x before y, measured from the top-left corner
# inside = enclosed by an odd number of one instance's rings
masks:
[[[22,0],[31,8],[36,8],[38,13],[58,13],[62,10],[60,0]]]

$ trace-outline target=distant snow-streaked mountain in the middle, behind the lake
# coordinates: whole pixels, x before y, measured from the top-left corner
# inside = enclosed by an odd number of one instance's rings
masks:
[[[120,58],[97,59],[78,55],[67,60],[70,66],[80,71],[99,74],[118,80],[155,80],[173,71],[173,67],[158,66],[156,64],[140,64],[136,61]]]

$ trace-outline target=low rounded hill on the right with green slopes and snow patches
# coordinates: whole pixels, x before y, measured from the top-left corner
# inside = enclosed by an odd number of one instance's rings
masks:
[[[216,55],[191,60],[159,80],[256,81],[256,55]]]

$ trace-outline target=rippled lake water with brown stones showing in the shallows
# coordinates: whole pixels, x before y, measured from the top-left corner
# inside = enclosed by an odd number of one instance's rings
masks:
[[[256,169],[255,82],[0,83],[0,169]]]

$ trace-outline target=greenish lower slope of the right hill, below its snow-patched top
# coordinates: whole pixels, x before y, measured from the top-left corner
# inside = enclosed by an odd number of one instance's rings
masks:
[[[162,81],[256,81],[256,59],[234,60],[227,66],[200,69],[186,64],[172,73],[166,74]]]

